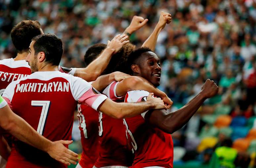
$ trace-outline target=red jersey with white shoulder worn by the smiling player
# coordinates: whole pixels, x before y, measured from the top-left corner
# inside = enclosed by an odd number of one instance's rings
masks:
[[[149,96],[149,92],[135,90],[127,92],[125,102],[139,102]],[[170,134],[152,127],[145,122],[141,115],[124,119],[128,146],[132,147],[134,161],[132,167],[157,166],[173,167],[173,142]]]

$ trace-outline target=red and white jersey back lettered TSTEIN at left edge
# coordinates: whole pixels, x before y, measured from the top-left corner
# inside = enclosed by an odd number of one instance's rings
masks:
[[[12,82],[31,74],[30,67],[25,60],[15,61],[13,58],[0,61],[0,95]]]

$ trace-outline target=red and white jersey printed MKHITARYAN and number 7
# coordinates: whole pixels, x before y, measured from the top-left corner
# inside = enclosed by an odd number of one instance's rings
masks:
[[[12,110],[51,141],[70,140],[77,102],[97,110],[107,98],[85,80],[59,71],[34,72],[12,82],[3,98]],[[48,154],[16,140],[6,168],[66,167]]]

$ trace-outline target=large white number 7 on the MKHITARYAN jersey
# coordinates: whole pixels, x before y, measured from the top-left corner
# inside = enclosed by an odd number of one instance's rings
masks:
[[[41,116],[40,116],[39,123],[37,126],[37,132],[41,135],[43,135],[43,132],[44,132],[45,121],[48,116],[50,104],[51,104],[51,102],[46,101],[46,100],[32,100],[31,101],[32,106],[42,106],[42,112],[41,112]]]

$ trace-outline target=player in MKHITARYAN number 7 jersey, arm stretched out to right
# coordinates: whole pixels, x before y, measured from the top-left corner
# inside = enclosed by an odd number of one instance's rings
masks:
[[[115,103],[97,94],[85,80],[58,71],[62,54],[62,41],[56,35],[33,38],[26,57],[32,74],[12,82],[3,94],[13,111],[46,138],[53,141],[71,138],[77,102],[115,118],[135,116],[151,108],[166,109],[163,101],[152,94],[147,102],[129,104]],[[14,142],[6,167],[29,166],[65,167],[20,141]]]

